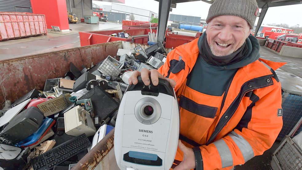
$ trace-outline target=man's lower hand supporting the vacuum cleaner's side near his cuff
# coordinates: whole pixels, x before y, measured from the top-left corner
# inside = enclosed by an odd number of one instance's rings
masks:
[[[195,168],[195,156],[192,148],[186,147],[178,140],[178,148],[183,152],[183,160],[173,170],[190,170]]]

